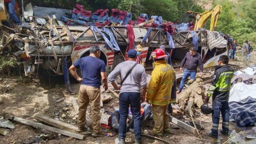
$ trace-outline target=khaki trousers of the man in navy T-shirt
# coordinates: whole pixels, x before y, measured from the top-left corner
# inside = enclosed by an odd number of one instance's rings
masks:
[[[85,120],[86,120],[87,106],[90,103],[92,128],[95,133],[99,133],[101,131],[101,125],[100,125],[101,93],[100,93],[100,88],[81,85],[80,89],[79,89],[78,97],[79,97],[79,99],[78,99],[79,110],[78,110],[78,117],[77,117],[78,127],[84,126]]]

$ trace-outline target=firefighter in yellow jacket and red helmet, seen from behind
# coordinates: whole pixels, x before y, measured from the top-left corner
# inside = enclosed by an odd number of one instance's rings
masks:
[[[162,137],[163,133],[169,133],[168,104],[171,98],[171,89],[174,82],[174,70],[168,65],[165,51],[155,49],[152,52],[154,58],[154,70],[147,89],[146,99],[152,104],[154,129],[148,134]]]

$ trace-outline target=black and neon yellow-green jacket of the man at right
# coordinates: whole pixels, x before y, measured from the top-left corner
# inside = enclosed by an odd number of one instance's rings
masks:
[[[234,69],[228,65],[218,66],[215,69],[214,81],[210,85],[207,96],[213,96],[213,100],[228,100],[233,73]]]

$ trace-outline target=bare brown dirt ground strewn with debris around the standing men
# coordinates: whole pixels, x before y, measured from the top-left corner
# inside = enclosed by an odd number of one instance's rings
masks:
[[[256,59],[255,54],[256,52],[253,52],[252,59]],[[250,65],[254,64],[253,62],[254,61],[252,60]],[[241,62],[237,63],[241,64]],[[178,71],[178,69],[176,69],[176,71]],[[147,75],[149,74],[150,72],[147,72]],[[71,86],[74,92],[78,93],[80,84],[71,79]],[[34,76],[33,78],[20,78],[18,76],[8,77],[5,75],[0,75],[0,88],[0,116],[2,116],[4,113],[10,113],[26,120],[39,122],[33,119],[32,116],[34,113],[42,113],[48,117],[76,125],[77,114],[75,113],[74,108],[72,104],[69,103],[68,99],[71,96],[77,99],[78,94],[71,95],[66,91],[66,87],[63,85],[62,76],[51,76],[49,78],[48,76],[41,75],[39,77]],[[119,106],[118,98],[112,95],[112,93],[106,92],[102,93],[102,95],[112,96],[112,100],[104,103],[103,105],[103,109],[105,109],[105,111],[114,111],[113,107]],[[65,98],[65,101],[56,103],[56,100],[61,98]],[[65,107],[67,111],[63,110],[63,107]],[[67,116],[61,117],[63,113]],[[189,120],[188,114],[178,117]],[[225,137],[222,134],[219,134],[218,140],[207,137],[205,134],[206,132],[209,132],[211,128],[211,115],[203,115],[202,118],[200,118],[199,115],[195,114],[194,119],[196,120],[197,124],[199,124],[201,120],[204,129],[199,130],[199,132],[206,144],[214,144],[217,142],[223,144],[227,141],[230,143],[248,142],[245,141],[244,137],[246,133],[241,131],[240,128],[234,126],[233,124],[230,124],[230,130],[232,130],[232,134],[234,134],[233,137]],[[115,134],[114,137],[102,138],[93,138],[90,135],[87,135],[86,140],[81,141],[72,137],[53,133],[48,130],[25,126],[16,122],[13,123],[16,126],[15,129],[9,130],[6,136],[0,135],[0,144],[114,144],[115,138],[118,137],[117,134]],[[144,127],[144,133],[146,133],[146,130],[152,129],[153,125],[153,120],[149,120]],[[179,129],[171,128],[171,132],[172,134],[165,135],[165,141],[169,141],[173,144],[203,143],[198,134],[192,134],[181,127]],[[134,143],[134,136],[130,132],[127,133],[126,142],[127,144]],[[249,141],[249,143],[255,144],[256,141]],[[143,137],[143,144],[164,143],[158,140]]]

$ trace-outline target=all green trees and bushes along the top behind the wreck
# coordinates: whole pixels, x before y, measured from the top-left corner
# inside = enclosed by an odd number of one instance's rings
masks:
[[[133,20],[139,14],[146,13],[162,16],[166,21],[182,20],[187,10],[203,12],[200,5],[207,4],[206,0],[30,0],[33,5],[41,7],[56,7],[73,9],[76,3],[84,5],[86,10],[112,8],[129,10],[132,4]],[[239,44],[248,40],[256,42],[256,0],[213,0],[213,6],[222,6],[216,31],[230,34]],[[199,5],[200,3],[200,5]],[[209,20],[210,21],[210,20]],[[207,26],[209,27],[209,21]]]

